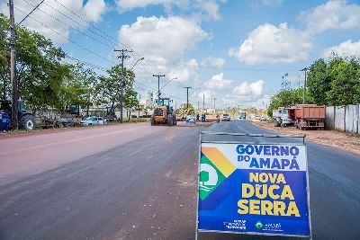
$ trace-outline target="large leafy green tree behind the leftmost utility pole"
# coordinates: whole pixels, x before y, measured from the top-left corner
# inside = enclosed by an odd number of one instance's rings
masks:
[[[0,28],[9,31],[9,20],[0,14]],[[6,35],[6,34],[5,34]],[[3,97],[10,96],[9,34],[0,40],[0,77]],[[63,79],[70,73],[69,65],[62,64],[65,52],[54,47],[51,40],[23,27],[16,27],[16,72],[19,81],[19,96],[32,112],[58,104],[58,93]],[[4,62],[6,60],[6,62]]]

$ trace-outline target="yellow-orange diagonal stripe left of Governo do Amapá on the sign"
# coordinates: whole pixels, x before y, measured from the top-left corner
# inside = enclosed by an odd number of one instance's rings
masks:
[[[216,147],[202,147],[202,154],[207,156],[225,177],[229,177],[236,170],[236,167]]]

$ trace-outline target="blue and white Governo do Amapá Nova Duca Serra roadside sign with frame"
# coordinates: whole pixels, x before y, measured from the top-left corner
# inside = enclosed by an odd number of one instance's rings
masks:
[[[205,134],[250,140],[205,141]],[[196,237],[219,232],[311,238],[305,136],[202,136]]]

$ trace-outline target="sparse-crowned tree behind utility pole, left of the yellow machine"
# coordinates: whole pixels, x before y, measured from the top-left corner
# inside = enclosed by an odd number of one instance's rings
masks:
[[[113,66],[106,72],[109,76],[99,76],[98,83],[95,85],[95,102],[110,105],[111,114],[114,114],[115,104],[125,101],[125,94],[132,88],[135,74],[128,69],[122,71],[120,65]]]

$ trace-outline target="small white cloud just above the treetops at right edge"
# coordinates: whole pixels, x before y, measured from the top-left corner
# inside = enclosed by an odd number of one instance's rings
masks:
[[[335,53],[341,57],[357,57],[360,58],[360,40],[352,41],[346,40],[341,42],[338,46],[332,46],[329,49],[325,49],[321,57],[322,58],[329,58],[331,55]]]

